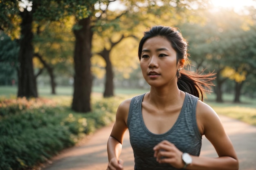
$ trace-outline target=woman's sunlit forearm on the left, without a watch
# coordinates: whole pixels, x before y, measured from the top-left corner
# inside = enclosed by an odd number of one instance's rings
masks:
[[[110,161],[112,158],[119,158],[122,150],[122,144],[117,141],[114,137],[108,138],[108,144],[107,144],[107,150],[108,150],[108,161]]]

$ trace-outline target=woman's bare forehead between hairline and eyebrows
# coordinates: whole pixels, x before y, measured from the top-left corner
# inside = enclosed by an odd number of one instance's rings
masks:
[[[171,42],[169,42],[166,38],[157,36],[157,37],[152,37],[148,38],[143,46],[142,49],[152,49],[152,48],[172,48]]]

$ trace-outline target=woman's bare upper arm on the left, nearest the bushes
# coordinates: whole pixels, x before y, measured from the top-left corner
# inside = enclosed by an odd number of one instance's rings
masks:
[[[128,129],[127,119],[128,119],[130,101],[131,99],[125,100],[117,108],[115,124],[110,134],[111,137],[114,137],[121,144],[123,143],[124,133]]]

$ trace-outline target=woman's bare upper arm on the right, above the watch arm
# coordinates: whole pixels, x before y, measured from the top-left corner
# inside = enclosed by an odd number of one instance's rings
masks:
[[[229,156],[237,159],[233,144],[225,132],[216,112],[207,104],[198,102],[197,120],[202,135],[211,142],[218,156]]]

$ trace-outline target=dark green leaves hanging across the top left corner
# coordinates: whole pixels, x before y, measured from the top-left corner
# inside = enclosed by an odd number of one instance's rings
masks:
[[[71,15],[76,18],[87,18],[98,0],[0,0],[0,29],[11,37],[19,37],[21,15],[24,11],[33,14],[35,23],[59,21]],[[100,1],[101,2],[101,1]]]

